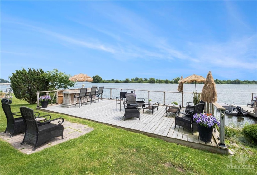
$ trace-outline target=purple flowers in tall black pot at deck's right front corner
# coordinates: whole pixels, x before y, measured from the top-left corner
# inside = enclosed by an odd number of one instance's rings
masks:
[[[220,126],[220,122],[208,113],[196,113],[193,115],[193,121],[198,124],[198,132],[200,140],[203,142],[211,142],[212,131],[216,126]]]

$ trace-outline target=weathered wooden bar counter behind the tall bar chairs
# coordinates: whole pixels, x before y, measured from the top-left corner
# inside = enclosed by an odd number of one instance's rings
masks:
[[[90,94],[90,91],[91,91],[91,88],[88,88],[87,95]],[[62,92],[62,94],[63,94],[63,103],[61,105],[63,107],[68,107],[68,108],[69,107],[74,107],[75,104],[76,104],[76,101],[79,99],[79,98],[74,98],[74,95],[79,96],[79,93],[80,93],[80,89],[64,90]],[[87,100],[89,100],[88,97],[83,97],[82,99],[85,100],[86,102],[87,102]],[[82,100],[82,102],[83,102],[83,100]],[[79,100],[78,100],[77,103],[79,103]]]

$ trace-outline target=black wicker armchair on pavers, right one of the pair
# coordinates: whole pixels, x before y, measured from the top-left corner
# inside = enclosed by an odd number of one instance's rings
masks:
[[[22,145],[24,142],[32,143],[32,151],[34,151],[36,147],[52,138],[61,136],[63,139],[64,127],[61,125],[64,122],[63,118],[59,117],[51,120],[50,115],[45,115],[50,117],[49,120],[42,122],[43,125],[39,126],[35,120],[38,117],[34,117],[33,109],[28,107],[20,107],[20,111],[25,122],[25,135],[21,143]],[[54,120],[59,120],[59,124],[49,123]],[[62,120],[62,122],[60,120]]]

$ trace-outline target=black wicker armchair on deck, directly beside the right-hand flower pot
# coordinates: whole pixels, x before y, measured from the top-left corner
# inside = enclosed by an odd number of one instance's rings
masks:
[[[202,113],[203,108],[204,104],[199,103],[197,105],[194,105],[193,113],[185,114],[177,111],[175,117],[175,128],[177,127],[177,125],[179,125],[186,128],[188,131],[191,131],[192,134],[194,134],[194,132],[197,131],[198,128],[197,123],[193,121],[193,115],[195,113]],[[182,114],[182,116],[179,116],[180,114]]]

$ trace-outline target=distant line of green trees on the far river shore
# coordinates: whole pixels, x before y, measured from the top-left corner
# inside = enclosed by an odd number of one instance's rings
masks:
[[[100,77],[99,75],[95,75],[92,77],[93,78],[93,83],[165,83],[165,84],[178,84],[180,78],[177,77],[177,78],[173,78],[171,80],[161,80],[161,79],[155,79],[155,78],[138,78],[138,77],[135,77],[135,78],[126,78],[125,80],[114,80],[114,79],[111,79],[111,80],[103,80],[102,77]],[[214,82],[216,84],[257,84],[257,81],[253,80],[253,81],[250,81],[250,80],[244,80],[244,81],[241,81],[241,80],[214,80]],[[194,82],[192,83],[194,84]],[[204,83],[198,83],[198,84],[204,84]]]

